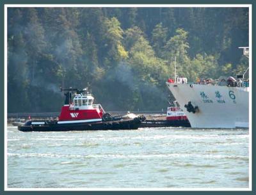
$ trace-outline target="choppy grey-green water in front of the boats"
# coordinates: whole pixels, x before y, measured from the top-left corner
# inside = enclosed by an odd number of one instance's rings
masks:
[[[8,187],[248,187],[248,141],[248,129],[8,127]]]

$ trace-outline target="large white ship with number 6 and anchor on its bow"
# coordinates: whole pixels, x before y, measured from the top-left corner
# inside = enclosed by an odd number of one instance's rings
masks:
[[[244,47],[247,51],[248,47]],[[248,70],[246,70],[247,72]],[[244,77],[244,75],[241,75]],[[193,128],[249,127],[249,87],[243,77],[240,82],[218,84],[188,84],[184,78],[166,82]],[[232,77],[234,81],[234,79]],[[231,79],[231,80],[232,80]],[[231,81],[232,82],[232,81]]]

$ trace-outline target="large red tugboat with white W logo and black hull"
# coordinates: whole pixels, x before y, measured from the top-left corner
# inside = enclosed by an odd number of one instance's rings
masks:
[[[145,120],[145,116],[132,113],[124,116],[111,116],[100,104],[93,104],[94,98],[86,88],[83,90],[61,88],[61,91],[67,91],[67,93],[64,93],[65,104],[61,108],[58,119],[28,120],[18,129],[23,132],[138,129],[141,121]],[[72,96],[74,96],[73,99]]]

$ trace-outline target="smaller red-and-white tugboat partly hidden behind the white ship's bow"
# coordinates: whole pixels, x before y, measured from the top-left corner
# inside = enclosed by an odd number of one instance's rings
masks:
[[[186,114],[173,102],[173,106],[167,107],[166,117],[147,119],[141,123],[141,127],[191,127]]]

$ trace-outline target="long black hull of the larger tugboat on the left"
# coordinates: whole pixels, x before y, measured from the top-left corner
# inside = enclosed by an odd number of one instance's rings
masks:
[[[95,123],[66,123],[59,124],[57,121],[34,121],[38,125],[33,125],[33,121],[27,121],[18,129],[23,132],[31,131],[69,131],[69,130],[125,130],[138,129],[141,120],[118,120],[118,121],[101,121]],[[40,124],[42,123],[42,124]]]

